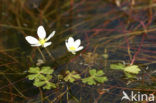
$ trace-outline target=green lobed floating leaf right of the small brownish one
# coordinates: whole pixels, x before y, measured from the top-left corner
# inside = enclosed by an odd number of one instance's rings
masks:
[[[88,85],[96,85],[96,82],[104,83],[107,81],[107,77],[104,76],[104,72],[102,70],[96,71],[96,69],[89,70],[90,77],[82,79],[83,83],[87,83]]]

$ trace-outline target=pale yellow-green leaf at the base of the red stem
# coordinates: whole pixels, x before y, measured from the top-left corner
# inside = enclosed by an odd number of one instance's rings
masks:
[[[138,74],[141,70],[137,65],[130,65],[125,67],[124,71],[132,74]]]

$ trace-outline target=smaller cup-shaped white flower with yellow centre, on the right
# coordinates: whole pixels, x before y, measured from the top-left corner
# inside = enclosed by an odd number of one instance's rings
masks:
[[[77,39],[74,41],[73,37],[69,37],[69,39],[65,42],[66,47],[69,52],[72,54],[76,54],[77,51],[80,51],[83,49],[83,46],[80,46],[81,40]]]

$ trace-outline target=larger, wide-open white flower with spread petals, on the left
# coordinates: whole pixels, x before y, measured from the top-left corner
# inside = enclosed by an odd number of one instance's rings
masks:
[[[39,37],[39,40],[32,37],[32,36],[26,36],[25,39],[31,46],[42,46],[47,47],[51,45],[51,42],[47,42],[49,39],[51,39],[55,34],[55,31],[53,31],[47,38],[46,38],[46,31],[44,30],[43,26],[39,26],[37,29],[37,35]]]

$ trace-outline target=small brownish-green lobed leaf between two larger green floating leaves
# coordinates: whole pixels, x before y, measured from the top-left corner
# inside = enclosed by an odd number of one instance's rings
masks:
[[[77,74],[75,71],[72,71],[72,72],[66,71],[66,74],[67,74],[67,76],[64,78],[64,80],[66,82],[69,81],[69,82],[73,83],[75,80],[81,78],[80,75]]]

